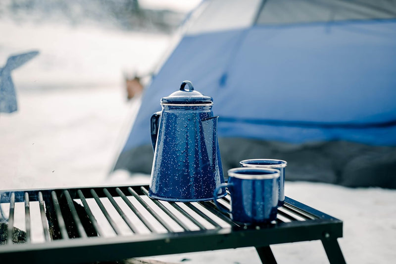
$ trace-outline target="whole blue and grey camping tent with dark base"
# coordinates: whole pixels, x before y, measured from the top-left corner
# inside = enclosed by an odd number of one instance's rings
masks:
[[[287,180],[396,188],[396,1],[203,1],[184,27],[115,169],[150,172],[149,117],[191,80],[225,171],[280,158]]]

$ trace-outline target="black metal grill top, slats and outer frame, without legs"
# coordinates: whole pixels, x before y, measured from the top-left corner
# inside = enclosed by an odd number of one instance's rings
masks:
[[[245,226],[219,211],[212,201],[164,202],[147,194],[148,186],[0,191],[2,211],[9,212],[8,234],[15,232],[13,226],[25,232],[24,243],[16,244],[13,236],[2,242],[0,259],[23,253],[20,256],[30,258],[31,263],[32,258],[50,263],[37,254],[46,251],[65,255],[61,263],[80,263],[255,246],[254,240],[263,245],[314,240],[321,239],[324,232],[342,236],[342,221],[290,198],[278,209],[273,223]],[[230,196],[219,203],[229,208]],[[307,232],[307,227],[315,231]],[[264,236],[264,232],[271,235]],[[206,240],[209,238],[213,240]],[[202,243],[197,244],[197,239]],[[173,241],[178,246],[171,247]],[[154,252],[149,250],[151,246],[155,246]],[[72,253],[77,248],[97,251],[76,257]],[[109,255],[111,250],[117,250],[118,256]]]

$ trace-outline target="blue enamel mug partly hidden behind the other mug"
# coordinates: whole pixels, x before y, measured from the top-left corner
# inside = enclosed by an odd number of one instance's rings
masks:
[[[288,162],[281,159],[271,158],[255,158],[245,159],[239,162],[243,167],[257,167],[257,168],[274,168],[281,173],[279,177],[279,202],[278,206],[283,206],[285,203],[285,167]]]

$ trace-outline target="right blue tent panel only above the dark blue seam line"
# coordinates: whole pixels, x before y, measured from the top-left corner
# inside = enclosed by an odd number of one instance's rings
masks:
[[[257,90],[263,89],[266,98],[279,100],[265,101],[265,109],[276,111],[261,112],[262,119],[396,120],[396,79],[390,78],[396,74],[395,47],[396,20],[255,26],[231,63],[219,114],[251,117],[249,107],[234,111],[226,99],[241,91],[240,104],[255,105],[263,100],[257,98]]]

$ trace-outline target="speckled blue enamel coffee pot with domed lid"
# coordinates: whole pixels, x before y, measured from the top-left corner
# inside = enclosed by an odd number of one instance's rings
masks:
[[[179,91],[161,99],[161,106],[151,116],[154,159],[148,196],[175,202],[212,200],[224,182],[213,99],[184,81]],[[225,195],[220,190],[218,198]]]

